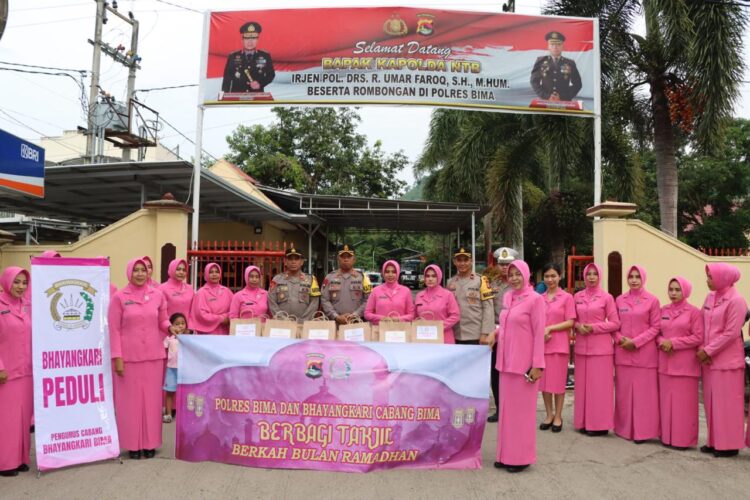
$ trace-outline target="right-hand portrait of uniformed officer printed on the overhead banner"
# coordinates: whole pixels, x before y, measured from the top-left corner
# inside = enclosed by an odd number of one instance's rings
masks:
[[[582,84],[575,61],[562,56],[565,35],[550,31],[544,39],[549,55],[537,57],[531,70],[531,88],[542,99],[572,101]]]

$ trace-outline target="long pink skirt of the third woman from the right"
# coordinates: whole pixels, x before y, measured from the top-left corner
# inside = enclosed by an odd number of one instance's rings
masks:
[[[659,373],[656,368],[617,365],[615,434],[643,441],[659,437]]]

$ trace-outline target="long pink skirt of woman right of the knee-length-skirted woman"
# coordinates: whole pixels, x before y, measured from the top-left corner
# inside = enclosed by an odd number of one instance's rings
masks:
[[[608,431],[614,422],[614,357],[576,354],[573,426]]]

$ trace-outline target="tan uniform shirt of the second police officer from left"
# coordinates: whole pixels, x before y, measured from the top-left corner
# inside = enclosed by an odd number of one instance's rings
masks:
[[[329,273],[323,280],[320,305],[329,319],[336,319],[340,314],[365,316],[367,296],[372,290],[370,281],[362,273],[341,270]]]

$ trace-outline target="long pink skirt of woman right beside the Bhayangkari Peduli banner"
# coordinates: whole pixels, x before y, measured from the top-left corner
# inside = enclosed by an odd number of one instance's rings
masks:
[[[161,447],[164,361],[125,362],[125,375],[112,371],[120,446],[129,451]]]

